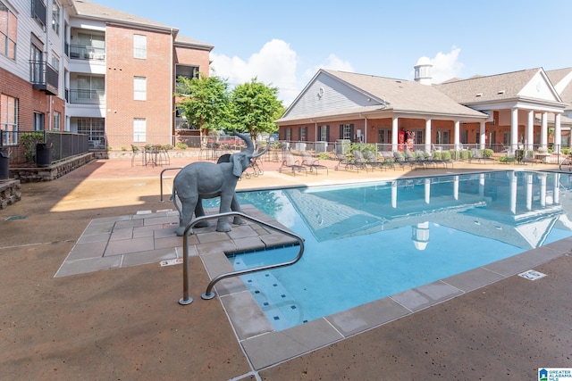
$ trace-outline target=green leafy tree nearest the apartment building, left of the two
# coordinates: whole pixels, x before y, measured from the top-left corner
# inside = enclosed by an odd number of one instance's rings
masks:
[[[228,87],[226,79],[206,77],[202,73],[198,78],[177,79],[175,96],[181,97],[177,106],[189,123],[198,127],[203,144],[211,129],[224,127],[229,120]]]

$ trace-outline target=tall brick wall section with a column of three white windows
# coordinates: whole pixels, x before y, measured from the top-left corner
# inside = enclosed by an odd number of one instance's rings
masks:
[[[147,36],[147,58],[133,58],[133,35]],[[171,143],[172,37],[169,33],[107,26],[105,133],[113,149],[133,143],[133,120],[147,120],[147,141]],[[147,78],[147,100],[133,100],[133,78]]]

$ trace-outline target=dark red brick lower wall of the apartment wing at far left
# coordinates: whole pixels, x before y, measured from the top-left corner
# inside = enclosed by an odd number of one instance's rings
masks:
[[[62,114],[62,129],[64,120],[63,99],[52,95],[52,113],[50,113],[50,96],[34,90],[31,83],[21,79],[11,72],[0,68],[0,93],[18,99],[18,128],[21,131],[34,130],[34,112],[44,114],[44,129],[49,129],[53,112]]]

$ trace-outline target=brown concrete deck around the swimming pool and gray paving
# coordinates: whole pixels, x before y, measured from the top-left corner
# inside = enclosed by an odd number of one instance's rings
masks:
[[[184,164],[172,161],[172,166]],[[330,185],[515,167],[555,169],[541,164],[459,163],[452,170],[330,170],[328,175],[294,177],[278,173],[276,163],[264,162],[265,174],[241,180],[239,188]],[[0,211],[4,338],[0,363],[5,379],[520,380],[535,379],[537,368],[572,366],[568,240],[528,254],[541,255],[541,261],[534,261],[542,264],[518,261],[487,269],[494,277],[508,271],[492,284],[479,284],[487,277],[475,274],[473,281],[482,287],[475,290],[471,288],[475,284],[468,282],[466,293],[445,297],[447,302],[441,302],[437,296],[442,294],[435,294],[434,288],[425,290],[438,303],[431,308],[409,305],[409,310],[418,311],[400,319],[398,313],[381,326],[377,326],[382,319],[379,311],[392,311],[384,304],[387,301],[379,302],[381,309],[364,307],[367,311],[360,317],[346,313],[339,320],[345,326],[326,321],[323,327],[330,332],[346,331],[343,340],[322,335],[322,327],[274,335],[282,336],[279,340],[267,335],[241,337],[242,332],[229,323],[227,313],[232,308],[224,302],[226,295],[200,299],[209,276],[199,255],[190,260],[190,294],[195,301],[189,306],[177,303],[181,266],[153,262],[55,277],[92,220],[138,212],[140,216],[140,211],[168,214],[165,210],[172,205],[159,203],[161,170],[130,167],[130,160],[91,162],[49,183],[22,184],[21,202]],[[531,267],[547,276],[530,281],[512,275]],[[401,308],[417,299],[404,296]],[[251,310],[238,315],[247,324],[256,321],[248,319]],[[349,326],[365,328],[356,334]],[[323,342],[310,348],[307,342],[312,340]],[[311,352],[297,356],[300,346]],[[277,359],[276,365],[267,365]]]

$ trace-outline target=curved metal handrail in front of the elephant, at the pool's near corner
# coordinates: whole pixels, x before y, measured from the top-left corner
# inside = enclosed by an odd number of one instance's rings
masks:
[[[299,243],[299,246],[300,246],[299,253],[292,261],[275,263],[273,265],[268,265],[268,266],[261,266],[261,267],[255,268],[255,269],[241,269],[241,270],[237,270],[237,271],[231,271],[231,272],[220,274],[220,275],[214,277],[210,281],[208,286],[206,286],[205,294],[201,295],[202,299],[210,300],[210,299],[214,298],[214,293],[212,292],[212,290],[213,290],[214,284],[216,284],[219,280],[223,280],[227,277],[238,277],[240,275],[249,274],[249,273],[257,272],[257,271],[262,271],[265,269],[276,269],[276,268],[280,268],[280,267],[290,266],[290,265],[293,265],[294,263],[298,262],[302,258],[302,255],[304,254],[304,238],[297,235],[296,233],[291,233],[291,232],[286,231],[282,228],[275,227],[269,223],[266,223],[265,221],[262,221],[260,219],[255,219],[254,217],[250,217],[250,216],[248,216],[248,215],[246,215],[240,211],[229,211],[229,212],[225,212],[225,213],[218,213],[218,214],[212,214],[212,215],[208,215],[208,216],[198,217],[198,219],[192,220],[189,223],[189,225],[187,225],[187,228],[185,228],[185,232],[182,236],[182,298],[181,298],[181,300],[179,300],[179,304],[187,305],[187,304],[190,304],[191,302],[193,302],[193,298],[189,296],[189,231],[195,225],[197,225],[199,222],[204,221],[206,219],[219,219],[219,218],[225,218],[225,217],[231,217],[231,216],[238,216],[238,217],[241,217],[243,219],[248,219],[252,222],[257,223],[258,225],[264,226],[265,228],[271,228],[274,231],[283,233],[286,236],[290,236],[290,237],[296,239]]]

